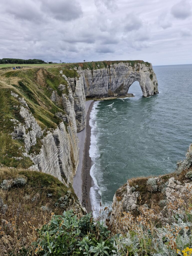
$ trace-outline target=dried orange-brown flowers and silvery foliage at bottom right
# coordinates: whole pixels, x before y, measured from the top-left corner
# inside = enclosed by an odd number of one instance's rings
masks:
[[[113,243],[113,256],[192,255],[191,195],[189,184],[186,191],[176,194],[175,201],[169,202],[160,213],[142,206],[137,217],[130,212],[124,212],[121,217],[117,214],[113,232],[119,232],[120,236]]]

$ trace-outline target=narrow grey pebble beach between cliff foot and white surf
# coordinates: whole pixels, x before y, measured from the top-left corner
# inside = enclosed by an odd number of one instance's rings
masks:
[[[89,157],[91,141],[91,127],[89,125],[89,120],[93,104],[93,100],[86,101],[86,126],[82,131],[77,133],[79,139],[79,165],[76,175],[73,177],[73,189],[79,197],[81,204],[88,212],[92,210],[89,198],[89,191],[92,184],[92,178],[90,176],[91,158]],[[89,207],[87,207],[87,205]]]

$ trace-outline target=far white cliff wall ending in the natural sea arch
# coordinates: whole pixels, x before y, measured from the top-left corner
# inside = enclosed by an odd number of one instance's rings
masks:
[[[106,68],[82,70],[86,97],[109,97],[126,95],[134,81],[140,83],[143,96],[158,93],[158,82],[150,64],[136,63],[133,67],[129,62],[114,63]]]

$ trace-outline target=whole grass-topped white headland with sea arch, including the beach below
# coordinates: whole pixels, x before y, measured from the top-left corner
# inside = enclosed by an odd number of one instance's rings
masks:
[[[80,201],[90,210],[93,103],[86,98],[131,97],[128,90],[134,81],[140,82],[144,97],[158,93],[151,63],[141,60],[45,64],[18,70],[3,67],[1,137],[8,144],[1,166],[30,168],[51,174],[67,186],[74,183]]]

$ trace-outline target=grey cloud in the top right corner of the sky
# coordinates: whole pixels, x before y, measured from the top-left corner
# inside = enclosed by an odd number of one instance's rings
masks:
[[[181,1],[172,7],[171,13],[175,18],[186,19],[191,15],[191,5],[188,1]]]

